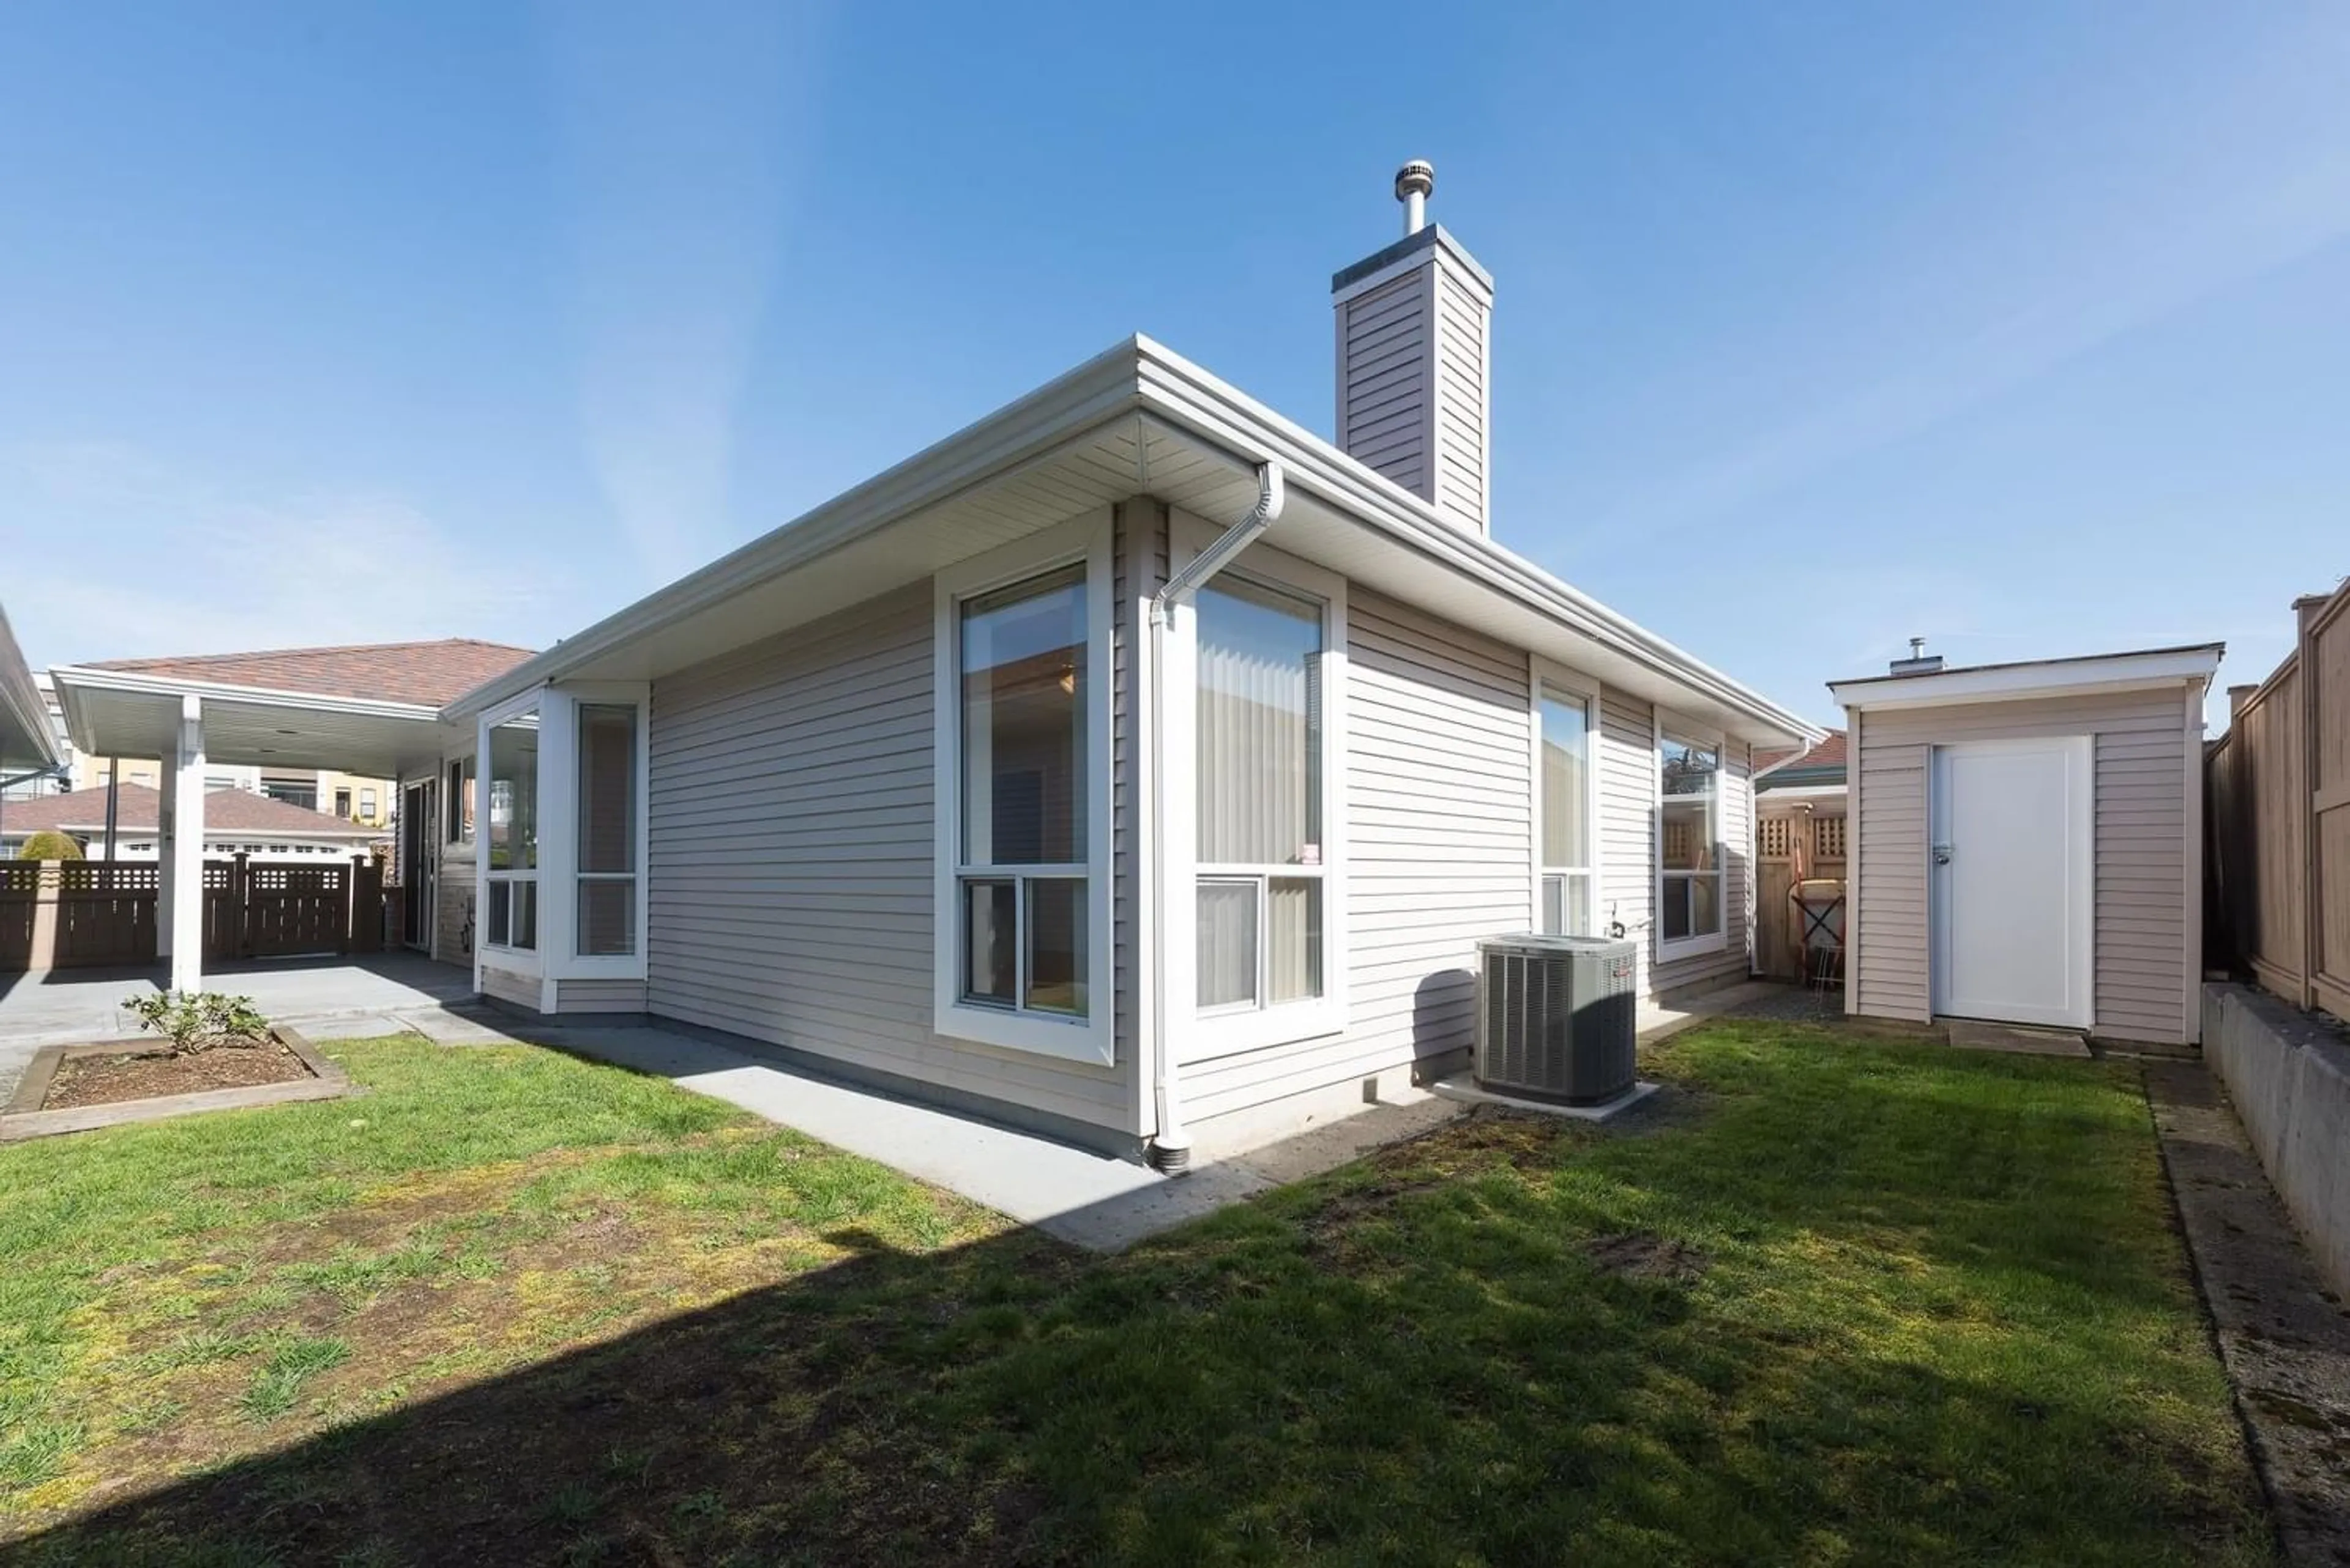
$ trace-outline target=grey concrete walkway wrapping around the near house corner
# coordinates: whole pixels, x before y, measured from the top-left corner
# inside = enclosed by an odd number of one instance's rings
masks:
[[[693,1093],[780,1121],[832,1147],[1102,1253],[1184,1225],[1257,1192],[1337,1168],[1365,1150],[1443,1124],[1441,1100],[1382,1105],[1302,1138],[1166,1178],[1130,1159],[994,1126],[801,1072],[766,1056],[656,1027],[562,1027],[562,1051],[651,1072]]]

